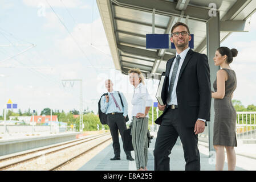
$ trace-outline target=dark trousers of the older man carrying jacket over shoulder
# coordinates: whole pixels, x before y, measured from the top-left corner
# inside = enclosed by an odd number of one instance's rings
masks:
[[[112,136],[113,140],[113,149],[114,149],[114,154],[117,157],[120,157],[120,144],[119,144],[119,133],[121,135],[121,139],[123,140],[123,148],[124,148],[124,130],[127,129],[126,124],[125,124],[125,118],[123,113],[120,114],[108,114],[107,115],[107,122],[108,126],[110,129],[110,133]],[[125,154],[127,156],[131,156],[131,151],[126,151],[124,150]]]

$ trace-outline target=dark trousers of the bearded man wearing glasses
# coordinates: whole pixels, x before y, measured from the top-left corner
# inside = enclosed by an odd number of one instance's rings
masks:
[[[194,127],[190,128],[182,125],[178,115],[178,108],[168,109],[162,117],[154,150],[155,170],[170,170],[169,155],[178,136],[180,136],[184,151],[185,170],[200,171],[200,153],[197,147],[198,136],[194,134]]]

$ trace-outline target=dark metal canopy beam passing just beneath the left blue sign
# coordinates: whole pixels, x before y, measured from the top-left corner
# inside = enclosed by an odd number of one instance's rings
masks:
[[[128,53],[131,55],[137,55],[137,56],[141,56],[141,57],[148,57],[149,59],[161,59],[160,56],[157,56],[157,52],[154,51],[148,51],[145,49],[139,49],[139,48],[135,48],[135,47],[129,47],[129,46],[123,46],[118,44],[117,48],[124,53]],[[169,60],[170,58],[172,58],[172,55],[165,55],[164,57],[162,57],[162,60]]]

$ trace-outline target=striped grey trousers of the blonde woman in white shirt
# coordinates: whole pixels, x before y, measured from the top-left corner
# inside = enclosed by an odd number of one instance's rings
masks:
[[[145,168],[148,163],[148,118],[132,117],[132,146],[137,169]]]

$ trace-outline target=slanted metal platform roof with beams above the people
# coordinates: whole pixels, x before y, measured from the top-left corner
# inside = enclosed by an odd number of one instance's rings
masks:
[[[206,23],[214,15],[214,6],[220,12],[222,42],[232,32],[249,30],[256,0],[97,0],[97,6],[115,69],[125,75],[130,68],[161,75],[166,61],[176,51],[170,46],[169,49],[146,49],[146,34],[153,31],[155,34],[170,34],[174,23],[184,22],[194,34],[193,50],[206,53]]]

